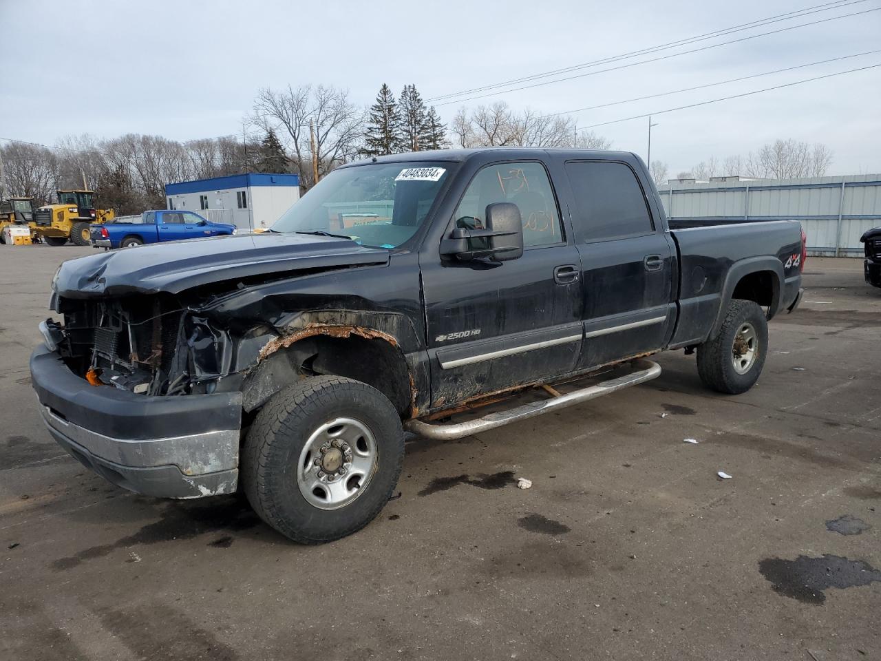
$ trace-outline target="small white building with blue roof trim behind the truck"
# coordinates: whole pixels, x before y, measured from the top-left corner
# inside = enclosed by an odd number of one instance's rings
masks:
[[[169,209],[254,230],[270,227],[300,199],[300,176],[248,173],[168,183],[166,197]]]

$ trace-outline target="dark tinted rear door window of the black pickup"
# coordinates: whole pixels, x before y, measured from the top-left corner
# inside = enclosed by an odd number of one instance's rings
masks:
[[[655,231],[640,182],[624,163],[569,162],[566,175],[575,198],[573,219],[580,243]]]

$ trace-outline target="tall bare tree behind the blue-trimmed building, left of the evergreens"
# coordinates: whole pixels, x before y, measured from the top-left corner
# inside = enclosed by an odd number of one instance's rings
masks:
[[[355,157],[365,123],[364,111],[349,100],[349,93],[336,87],[287,86],[280,92],[264,88],[258,93],[252,121],[286,134],[300,180],[308,188],[330,170]],[[310,125],[314,140],[310,137]],[[314,142],[314,147],[313,147]]]

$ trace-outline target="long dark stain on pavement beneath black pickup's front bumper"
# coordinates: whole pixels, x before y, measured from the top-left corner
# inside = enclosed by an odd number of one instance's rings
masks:
[[[113,544],[91,546],[59,558],[52,567],[58,571],[70,569],[82,561],[104,557],[117,548],[189,539],[211,531],[244,531],[261,523],[254,510],[248,507],[248,501],[234,495],[211,498],[209,503],[174,502],[162,509],[160,516],[159,521],[144,525],[133,535],[117,539]]]

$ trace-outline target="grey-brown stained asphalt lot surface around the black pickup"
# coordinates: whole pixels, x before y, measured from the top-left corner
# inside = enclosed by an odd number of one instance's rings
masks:
[[[665,353],[612,397],[409,442],[401,497],[306,547],[235,496],[130,494],[50,439],[28,355],[57,264],[91,252],[0,247],[0,658],[881,658],[861,260],[809,258],[750,392]]]

